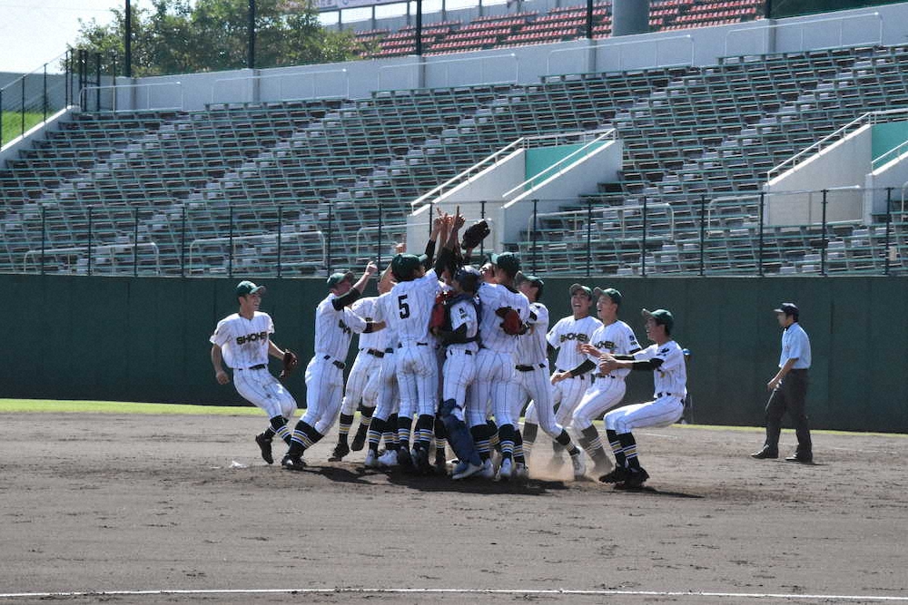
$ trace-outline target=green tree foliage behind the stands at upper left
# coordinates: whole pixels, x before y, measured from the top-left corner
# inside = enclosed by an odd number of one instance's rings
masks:
[[[255,67],[333,63],[357,58],[348,32],[319,23],[311,2],[256,0]],[[247,66],[249,0],[153,0],[132,9],[133,76],[216,72]],[[80,21],[76,49],[103,56],[104,71],[123,73],[125,14],[111,24]],[[114,58],[115,57],[115,58]]]

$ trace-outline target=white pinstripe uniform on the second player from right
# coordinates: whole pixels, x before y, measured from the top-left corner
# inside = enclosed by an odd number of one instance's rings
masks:
[[[599,327],[590,344],[603,353],[613,355],[629,355],[640,349],[634,330],[620,320]],[[597,357],[587,357],[593,363],[599,361]],[[591,426],[599,415],[621,403],[626,390],[625,376],[629,372],[627,368],[612,370],[608,374],[594,370],[593,382],[587,387],[587,392],[583,394],[572,416],[572,424],[577,431]]]

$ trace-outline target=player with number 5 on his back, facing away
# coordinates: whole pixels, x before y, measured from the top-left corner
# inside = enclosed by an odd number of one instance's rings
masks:
[[[431,469],[429,446],[434,436],[439,371],[434,338],[429,334],[429,316],[439,291],[439,278],[434,268],[426,271],[425,262],[425,256],[413,254],[399,254],[391,260],[391,270],[398,283],[390,291],[396,308],[387,320],[400,341],[395,353],[400,388],[398,459],[406,468],[415,465],[420,471],[428,472]],[[419,417],[413,452],[410,452],[414,414]]]

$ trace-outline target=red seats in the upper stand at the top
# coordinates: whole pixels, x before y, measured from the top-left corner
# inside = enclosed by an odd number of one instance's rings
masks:
[[[649,26],[652,31],[668,31],[753,21],[761,18],[764,4],[761,0],[653,0]],[[597,2],[593,8],[593,37],[604,38],[611,33],[611,3]],[[587,5],[581,4],[553,8],[544,15],[515,9],[505,15],[481,16],[467,24],[429,23],[423,28],[422,44],[423,53],[433,55],[562,42],[585,35]],[[403,56],[415,52],[416,28],[408,25],[397,32],[360,31],[356,39],[362,46],[363,58]]]

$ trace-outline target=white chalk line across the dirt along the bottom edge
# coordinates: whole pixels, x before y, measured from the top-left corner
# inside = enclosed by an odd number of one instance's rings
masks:
[[[901,601],[908,596],[883,595],[796,594],[774,592],[710,592],[704,590],[531,590],[531,589],[456,589],[456,588],[299,588],[299,589],[235,589],[235,590],[96,590],[86,592],[7,592],[0,599],[17,597],[45,599],[52,597],[101,597],[142,595],[212,595],[212,594],[502,594],[502,595],[586,595],[586,596],[637,596],[637,597],[716,597],[719,599],[784,599],[784,600],[856,600]]]

